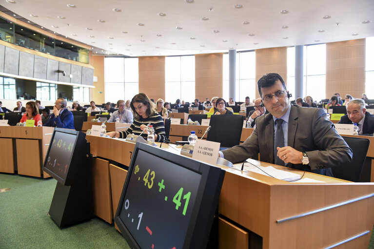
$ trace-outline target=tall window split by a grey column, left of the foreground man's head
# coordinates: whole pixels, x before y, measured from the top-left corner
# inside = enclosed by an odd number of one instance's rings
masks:
[[[256,97],[256,52],[236,53],[236,101]],[[229,55],[223,55],[223,98],[229,101]]]

